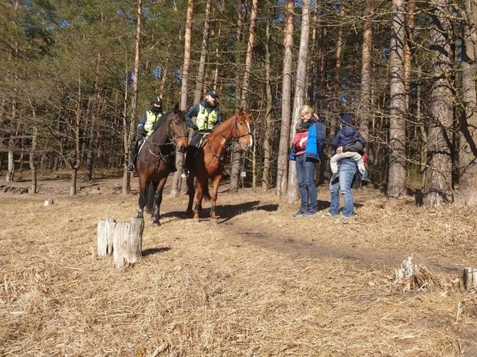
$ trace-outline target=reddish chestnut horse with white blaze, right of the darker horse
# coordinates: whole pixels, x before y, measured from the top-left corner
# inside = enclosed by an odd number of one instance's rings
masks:
[[[199,220],[202,209],[202,198],[212,201],[210,218],[212,222],[217,222],[215,214],[217,191],[224,175],[224,149],[226,144],[234,139],[239,142],[241,149],[246,151],[253,145],[251,133],[251,114],[245,114],[240,108],[239,112],[222,124],[217,125],[212,132],[207,135],[196,156],[191,158],[190,173],[187,177],[187,193],[189,194],[189,205],[187,214],[192,214],[192,203],[194,202],[194,177],[197,178],[196,206],[194,208],[194,220]],[[209,194],[209,179],[212,181],[212,196]]]

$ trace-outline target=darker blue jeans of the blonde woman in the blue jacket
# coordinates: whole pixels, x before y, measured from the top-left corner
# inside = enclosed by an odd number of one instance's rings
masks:
[[[295,167],[298,178],[298,191],[300,191],[303,211],[318,211],[318,199],[316,198],[315,169],[318,161],[307,159],[305,154],[296,156]]]

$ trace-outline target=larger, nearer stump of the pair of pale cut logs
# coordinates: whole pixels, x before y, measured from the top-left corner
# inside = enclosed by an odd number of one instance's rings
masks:
[[[116,223],[112,250],[116,267],[132,265],[141,259],[144,220],[132,218],[131,222]]]

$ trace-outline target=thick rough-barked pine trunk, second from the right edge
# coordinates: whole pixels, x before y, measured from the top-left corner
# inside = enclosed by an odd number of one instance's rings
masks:
[[[453,201],[451,138],[454,122],[454,83],[451,49],[452,28],[449,18],[449,0],[433,0],[434,14],[430,31],[433,73],[431,91],[431,123],[429,125],[426,179],[424,183],[424,205],[440,206]]]

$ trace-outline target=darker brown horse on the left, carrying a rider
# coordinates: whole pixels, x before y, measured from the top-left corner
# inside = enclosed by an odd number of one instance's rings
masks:
[[[187,122],[184,112],[178,106],[162,115],[154,124],[153,132],[137,156],[140,196],[137,218],[142,218],[144,207],[152,213],[152,225],[160,225],[159,208],[162,202],[162,189],[167,176],[175,167],[176,149],[187,150]]]

